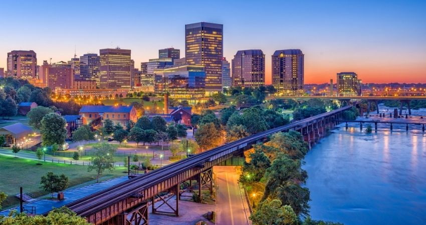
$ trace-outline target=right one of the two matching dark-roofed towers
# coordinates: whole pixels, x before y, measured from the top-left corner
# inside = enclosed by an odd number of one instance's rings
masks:
[[[272,55],[272,85],[284,94],[303,92],[304,54],[300,49],[276,50]]]

